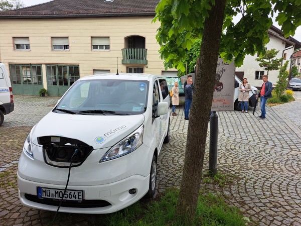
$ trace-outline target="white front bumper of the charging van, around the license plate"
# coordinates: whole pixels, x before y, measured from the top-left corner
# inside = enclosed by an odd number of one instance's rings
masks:
[[[67,190],[82,190],[82,202],[63,201],[60,212],[111,213],[123,209],[142,198],[148,190],[149,175],[133,175],[114,183],[92,186],[69,186]],[[59,199],[39,198],[38,187],[65,189],[64,185],[46,184],[26,180],[18,174],[19,197],[23,205],[57,211]],[[134,194],[129,190],[135,189]],[[22,192],[21,192],[22,190]],[[132,192],[131,192],[132,193]]]

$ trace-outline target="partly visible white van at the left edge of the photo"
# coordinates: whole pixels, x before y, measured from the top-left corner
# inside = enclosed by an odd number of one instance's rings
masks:
[[[8,71],[3,63],[0,63],[0,126],[3,124],[4,115],[14,110],[14,98]]]

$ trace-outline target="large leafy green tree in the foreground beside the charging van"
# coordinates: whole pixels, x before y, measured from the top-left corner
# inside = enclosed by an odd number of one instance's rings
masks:
[[[202,39],[176,209],[189,224],[194,220],[201,183],[218,55],[227,61],[235,57],[235,65],[240,66],[245,54],[264,54],[272,25],[269,14],[276,11],[285,37],[294,35],[301,24],[299,0],[161,0],[157,6],[154,21],[160,21],[160,28],[156,37],[168,67],[185,71],[183,52]],[[232,21],[237,14],[242,19],[235,25]]]

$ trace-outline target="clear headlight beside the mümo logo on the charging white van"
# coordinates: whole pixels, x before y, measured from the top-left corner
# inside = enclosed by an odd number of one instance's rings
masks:
[[[115,159],[136,150],[142,144],[143,130],[142,125],[108,150],[99,162]]]

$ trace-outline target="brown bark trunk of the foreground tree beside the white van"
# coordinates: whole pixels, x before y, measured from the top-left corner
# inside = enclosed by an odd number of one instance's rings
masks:
[[[201,184],[208,120],[212,105],[226,0],[216,4],[205,19],[195,92],[190,110],[183,179],[176,214],[194,221]]]

